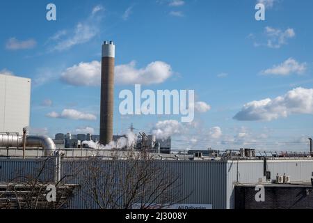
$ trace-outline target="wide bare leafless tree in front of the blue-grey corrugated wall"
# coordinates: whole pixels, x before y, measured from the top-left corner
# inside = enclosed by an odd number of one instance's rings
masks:
[[[112,151],[112,158],[92,157],[76,167],[86,208],[166,208],[188,197],[182,197],[180,176],[149,153],[124,151],[121,158]]]

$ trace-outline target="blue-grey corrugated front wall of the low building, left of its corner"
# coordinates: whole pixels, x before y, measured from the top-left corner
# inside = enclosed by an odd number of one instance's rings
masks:
[[[42,160],[41,160],[42,162]],[[77,171],[83,166],[84,160],[63,160],[62,175],[83,174]],[[118,168],[122,168],[127,160],[102,160],[103,168],[108,164],[117,164]],[[215,161],[165,161],[156,160],[157,164],[164,167],[165,170],[172,170],[180,176],[180,187],[182,197],[190,196],[184,203],[212,204],[214,209],[226,208],[226,167],[227,162]],[[17,174],[35,174],[38,171],[38,160],[5,160],[0,159],[0,181],[11,180]],[[54,174],[51,170],[52,177]],[[85,173],[86,174],[86,173]],[[79,177],[78,177],[79,178]],[[80,183],[77,178],[67,178],[67,183]],[[72,200],[70,208],[86,208],[86,202],[83,201],[83,188],[77,190],[77,196]],[[90,205],[88,205],[90,207]],[[97,206],[94,206],[97,207]]]

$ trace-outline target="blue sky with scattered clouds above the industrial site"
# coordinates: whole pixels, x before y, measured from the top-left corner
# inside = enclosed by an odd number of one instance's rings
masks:
[[[177,149],[307,150],[313,2],[259,1],[265,21],[255,20],[257,0],[1,1],[0,72],[32,79],[34,134],[97,134],[98,61],[103,40],[114,40],[116,66],[125,68],[115,74],[115,133],[134,123],[170,132]],[[56,21],[46,20],[48,3]],[[155,61],[163,66],[152,73]],[[179,116],[121,117],[118,94],[134,90],[128,75],[143,89],[194,89],[207,107],[189,124]]]

